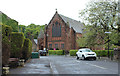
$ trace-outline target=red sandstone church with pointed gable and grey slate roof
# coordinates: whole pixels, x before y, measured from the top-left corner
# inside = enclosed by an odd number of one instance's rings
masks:
[[[80,21],[56,13],[38,36],[37,49],[79,49],[76,40],[82,36],[83,24]]]

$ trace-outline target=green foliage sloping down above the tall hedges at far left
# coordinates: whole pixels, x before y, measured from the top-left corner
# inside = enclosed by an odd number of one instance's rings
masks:
[[[0,24],[11,26],[13,32],[18,32],[18,22],[16,20],[9,18],[4,13],[0,13],[0,19],[2,19]]]

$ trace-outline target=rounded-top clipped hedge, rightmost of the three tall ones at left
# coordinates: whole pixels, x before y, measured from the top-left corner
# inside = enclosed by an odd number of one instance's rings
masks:
[[[31,54],[32,54],[32,42],[30,41],[30,39],[25,38],[24,46],[22,49],[22,58],[28,60],[31,57]]]

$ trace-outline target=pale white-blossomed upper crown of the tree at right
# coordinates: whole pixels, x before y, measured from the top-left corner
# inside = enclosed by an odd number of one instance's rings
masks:
[[[86,9],[80,12],[80,17],[91,25],[96,24],[97,26],[101,26],[104,31],[109,31],[109,29],[112,28],[120,32],[118,13],[117,1],[94,1],[88,4]]]

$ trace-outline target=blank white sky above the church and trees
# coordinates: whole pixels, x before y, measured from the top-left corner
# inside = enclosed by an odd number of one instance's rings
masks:
[[[59,14],[80,20],[79,12],[90,0],[0,0],[0,11],[21,25],[45,25],[56,9]]]

